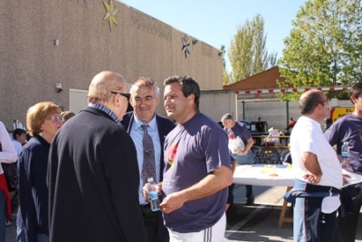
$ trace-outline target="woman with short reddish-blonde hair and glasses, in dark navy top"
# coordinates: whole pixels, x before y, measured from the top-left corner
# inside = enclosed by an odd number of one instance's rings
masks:
[[[49,241],[48,188],[46,174],[52,138],[62,127],[61,108],[41,102],[26,113],[26,126],[33,138],[19,157],[19,200],[17,240]]]

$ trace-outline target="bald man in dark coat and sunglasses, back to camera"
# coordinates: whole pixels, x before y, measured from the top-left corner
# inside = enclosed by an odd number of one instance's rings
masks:
[[[120,125],[129,96],[126,79],[100,72],[90,82],[88,107],[55,135],[48,167],[52,242],[147,241],[136,148]]]

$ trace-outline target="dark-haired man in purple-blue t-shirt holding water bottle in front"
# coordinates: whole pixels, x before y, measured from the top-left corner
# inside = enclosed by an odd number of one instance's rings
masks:
[[[232,183],[227,136],[199,112],[200,88],[191,77],[164,81],[167,116],[178,125],[165,140],[160,208],[170,240],[224,241],[227,187]]]

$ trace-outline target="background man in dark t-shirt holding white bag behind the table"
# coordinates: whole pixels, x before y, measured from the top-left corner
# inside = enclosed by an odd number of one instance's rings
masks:
[[[252,159],[254,154],[252,153],[252,135],[246,126],[243,125],[242,122],[236,122],[233,120],[233,116],[231,114],[225,114],[221,118],[221,122],[223,122],[224,132],[229,138],[229,142],[231,140],[235,140],[240,138],[243,142],[243,147],[236,150],[230,150],[230,153],[233,155],[233,158],[236,160],[238,164],[250,164],[252,163]],[[230,145],[229,145],[230,148]],[[252,205],[254,202],[254,195],[252,193],[252,186],[245,185],[246,188],[246,205]]]

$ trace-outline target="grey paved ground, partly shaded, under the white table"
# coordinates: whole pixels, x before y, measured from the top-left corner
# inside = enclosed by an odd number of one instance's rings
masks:
[[[285,187],[254,186],[255,204],[244,206],[245,188],[236,186],[235,204],[227,211],[226,242],[236,241],[293,241],[292,224],[284,223],[278,228],[281,213],[282,195]],[[357,242],[362,242],[362,216],[358,222]],[[6,228],[5,242],[14,242],[16,235],[15,221]]]

